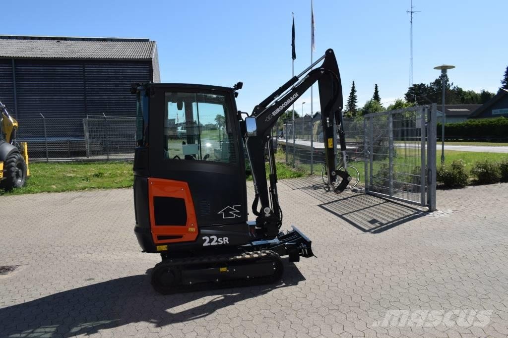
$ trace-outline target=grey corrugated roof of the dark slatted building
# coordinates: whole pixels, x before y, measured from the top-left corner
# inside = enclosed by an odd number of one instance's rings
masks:
[[[139,39],[66,40],[62,37],[0,37],[0,57],[43,59],[151,59],[155,41]],[[29,38],[29,37],[26,37]],[[56,39],[55,39],[56,38]]]

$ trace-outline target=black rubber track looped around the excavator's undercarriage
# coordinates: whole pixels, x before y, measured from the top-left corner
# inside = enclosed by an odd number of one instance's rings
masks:
[[[275,270],[275,274],[263,277],[249,278],[249,279],[238,279],[238,280],[225,280],[219,282],[205,282],[198,283],[193,285],[174,285],[169,288],[163,289],[161,286],[157,286],[154,284],[152,280],[152,285],[157,292],[162,294],[172,294],[172,293],[181,293],[181,292],[190,292],[190,291],[199,291],[199,290],[209,290],[209,289],[217,289],[217,288],[229,288],[229,287],[241,287],[241,286],[252,286],[252,285],[261,285],[261,284],[270,284],[278,281],[282,277],[283,265],[280,256],[271,250],[256,250],[256,251],[247,251],[238,254],[224,254],[224,255],[212,255],[212,256],[198,256],[198,257],[188,257],[188,258],[176,258],[176,259],[166,259],[160,263],[157,263],[154,267],[178,267],[181,271],[186,268],[192,267],[195,264],[228,264],[232,262],[238,261],[249,261],[252,260],[252,263],[255,264],[258,260],[265,260],[269,258],[271,261],[275,262],[277,269]]]

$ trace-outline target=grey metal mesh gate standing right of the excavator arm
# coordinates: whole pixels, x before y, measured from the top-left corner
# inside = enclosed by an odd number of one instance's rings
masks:
[[[436,208],[436,105],[364,116],[365,192]]]

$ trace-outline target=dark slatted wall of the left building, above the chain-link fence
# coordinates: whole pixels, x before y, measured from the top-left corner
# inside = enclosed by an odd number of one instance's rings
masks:
[[[135,116],[131,83],[152,81],[151,61],[15,59],[14,72],[12,65],[0,59],[0,100],[18,119]]]

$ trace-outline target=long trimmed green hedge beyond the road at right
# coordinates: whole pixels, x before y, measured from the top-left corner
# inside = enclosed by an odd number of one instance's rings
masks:
[[[437,123],[437,138],[441,136],[441,123]],[[504,117],[489,119],[469,119],[459,123],[444,125],[446,140],[507,140],[508,119]]]

